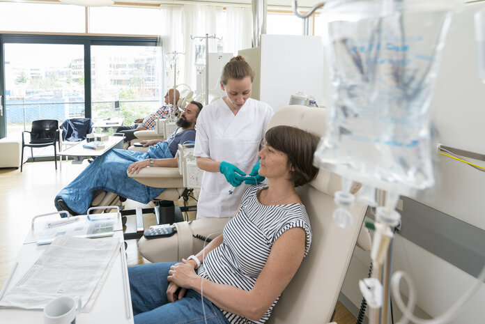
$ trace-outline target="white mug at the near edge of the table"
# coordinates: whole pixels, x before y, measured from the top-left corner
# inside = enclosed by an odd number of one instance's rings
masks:
[[[81,312],[79,297],[58,297],[44,308],[44,324],[76,324],[76,316]]]

